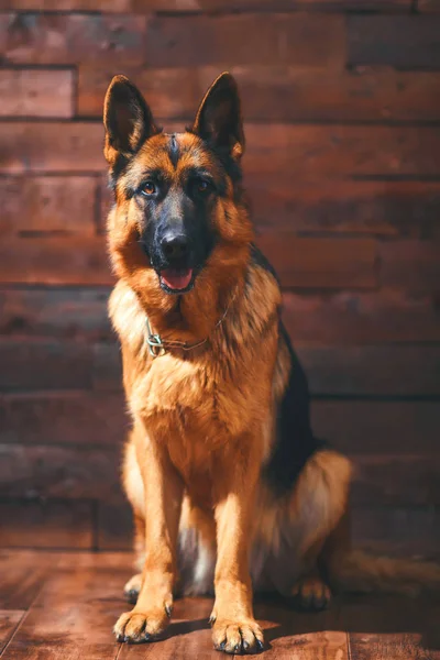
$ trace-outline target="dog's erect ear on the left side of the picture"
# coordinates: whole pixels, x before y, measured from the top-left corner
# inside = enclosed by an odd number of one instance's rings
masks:
[[[143,142],[157,133],[143,96],[125,76],[114,76],[103,103],[105,156],[112,165],[121,155],[130,158]]]

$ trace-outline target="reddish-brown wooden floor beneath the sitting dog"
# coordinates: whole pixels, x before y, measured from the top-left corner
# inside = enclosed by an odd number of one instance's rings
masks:
[[[209,598],[177,601],[162,641],[119,645],[111,629],[127,609],[129,554],[0,551],[1,660],[209,660]],[[440,604],[351,596],[299,614],[277,600],[255,604],[270,660],[440,659]]]

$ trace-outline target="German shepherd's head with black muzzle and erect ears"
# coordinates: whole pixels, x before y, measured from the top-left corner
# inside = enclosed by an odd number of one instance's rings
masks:
[[[252,239],[241,201],[244,135],[230,74],[217,78],[191,129],[164,133],[125,77],[105,102],[105,155],[116,191],[109,241],[119,276],[143,277],[162,294],[185,294],[216,263],[233,263]]]

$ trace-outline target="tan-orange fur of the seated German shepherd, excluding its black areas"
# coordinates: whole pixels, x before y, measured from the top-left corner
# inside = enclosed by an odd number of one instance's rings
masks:
[[[228,78],[226,85],[233,96],[234,84]],[[176,190],[195,165],[220,180],[218,162],[197,134],[211,92],[194,131],[173,138],[179,151],[175,162],[167,151],[169,136],[157,133],[146,109],[148,127],[142,124],[141,111],[127,116],[133,103],[138,107],[134,90],[117,77],[105,113],[110,168],[127,158],[108,219],[118,277],[109,311],[121,342],[133,421],[123,484],[133,507],[141,571],[125,587],[139,590],[138,602],[114,629],[122,640],[154,637],[168,624],[176,592],[209,593],[213,587],[216,648],[254,652],[263,635],[253,616],[253,586],[323,606],[329,590],[320,581],[319,562],[326,560],[340,582],[356,573],[355,558],[340,559],[351,466],[336,451],[322,450],[311,455],[283,496],[263,479],[276,440],[277,408],[295,369],[279,334],[280,290],[268,270],[251,257],[252,224],[240,185],[229,177],[224,194],[212,201],[209,221],[217,242],[196,286],[178,296],[178,305],[161,288],[139,241],[144,207],[125,191],[136,190],[151,168]],[[212,94],[217,98],[218,90]],[[220,113],[228,106],[224,94]],[[237,98],[234,103],[239,111]],[[208,113],[208,120],[217,121],[218,112]],[[133,129],[130,139],[118,141],[118,125]],[[146,129],[148,139],[142,142]],[[232,136],[230,156],[238,161],[244,148],[242,130]],[[168,348],[154,359],[146,319],[165,342],[202,343],[188,352]],[[384,562],[369,566],[366,573],[376,582],[392,573]],[[411,576],[420,574],[414,571]]]

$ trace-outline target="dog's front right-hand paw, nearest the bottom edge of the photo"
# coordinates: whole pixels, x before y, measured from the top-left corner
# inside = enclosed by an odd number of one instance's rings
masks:
[[[264,649],[262,629],[253,619],[243,622],[215,620],[212,641],[217,651],[224,651],[226,653],[258,653]]]

